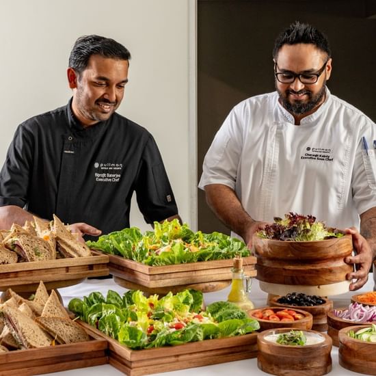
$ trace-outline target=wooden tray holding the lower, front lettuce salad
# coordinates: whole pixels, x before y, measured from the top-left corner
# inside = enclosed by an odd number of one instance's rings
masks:
[[[105,338],[109,345],[109,364],[128,376],[150,375],[178,369],[207,366],[256,358],[257,333],[230,338],[202,340],[185,345],[132,350],[120,345],[87,323],[79,321],[88,332]]]

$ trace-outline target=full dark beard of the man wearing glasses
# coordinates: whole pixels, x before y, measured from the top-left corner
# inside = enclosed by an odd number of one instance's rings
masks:
[[[314,107],[317,107],[321,103],[321,100],[325,97],[325,83],[323,83],[323,87],[320,89],[317,94],[312,95],[312,92],[308,90],[299,90],[299,92],[294,92],[293,90],[286,90],[284,92],[281,92],[278,90],[277,84],[276,84],[276,90],[280,96],[280,101],[282,103],[282,106],[290,113],[293,113],[295,115],[304,115],[305,113],[308,113],[314,109]],[[288,94],[307,94],[308,95],[308,102],[299,102],[295,101],[294,103],[291,103],[288,100]]]

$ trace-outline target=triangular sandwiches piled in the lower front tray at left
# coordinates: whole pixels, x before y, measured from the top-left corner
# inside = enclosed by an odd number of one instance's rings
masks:
[[[0,352],[33,349],[90,340],[83,327],[72,321],[55,291],[40,282],[33,300],[12,290],[0,305]]]

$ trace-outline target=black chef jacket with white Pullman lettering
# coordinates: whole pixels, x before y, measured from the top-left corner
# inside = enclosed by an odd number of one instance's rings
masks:
[[[152,135],[118,113],[84,129],[70,103],[18,126],[0,172],[0,206],[55,213],[104,234],[129,227],[133,191],[147,223],[176,215]]]

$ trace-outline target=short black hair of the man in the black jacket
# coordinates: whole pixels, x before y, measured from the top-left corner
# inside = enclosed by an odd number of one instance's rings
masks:
[[[103,36],[81,36],[70,52],[69,67],[81,74],[88,66],[90,56],[100,55],[112,59],[129,60],[131,53],[120,43]]]

